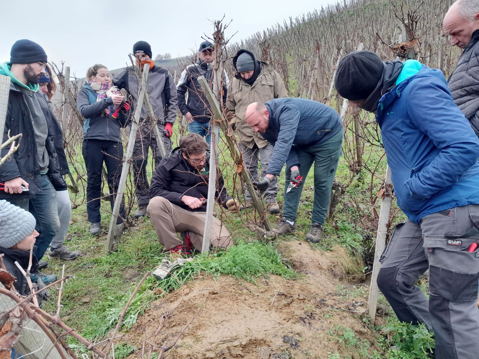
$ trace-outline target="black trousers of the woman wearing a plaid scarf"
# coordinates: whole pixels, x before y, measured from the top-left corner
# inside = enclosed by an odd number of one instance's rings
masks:
[[[87,169],[87,213],[88,222],[101,222],[100,197],[102,196],[102,168],[103,162],[108,174],[108,189],[110,202],[113,205],[120,181],[123,160],[123,145],[121,142],[105,140],[83,140],[82,154]],[[125,219],[125,206],[122,201],[120,213],[116,223]]]

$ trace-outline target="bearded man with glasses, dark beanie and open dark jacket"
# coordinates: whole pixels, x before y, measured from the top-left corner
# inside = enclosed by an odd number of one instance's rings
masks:
[[[10,62],[0,64],[0,74],[11,79],[3,142],[9,136],[22,134],[22,138],[16,140],[17,151],[0,166],[0,182],[5,184],[0,199],[34,215],[40,233],[34,254],[41,259],[59,228],[56,191],[47,175],[50,157],[56,154],[45,146],[47,122],[35,95],[47,58],[40,45],[25,39],[13,44],[10,56]],[[9,149],[1,149],[0,157]]]

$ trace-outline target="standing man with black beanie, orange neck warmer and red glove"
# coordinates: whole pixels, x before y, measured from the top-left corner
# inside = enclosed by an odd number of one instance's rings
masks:
[[[163,145],[166,153],[171,151],[172,126],[176,120],[178,111],[178,98],[176,87],[170,72],[160,66],[156,66],[151,59],[151,46],[146,41],[138,41],[133,45],[133,55],[137,59],[137,66],[141,68],[149,65],[148,73],[148,94],[155,117],[158,118],[157,126],[163,138]],[[134,67],[127,67],[114,76],[113,84],[119,89],[125,89],[133,98],[134,104],[141,106],[140,126],[137,133],[137,140],[133,147],[133,174],[135,179],[135,191],[137,194],[138,209],[135,217],[142,217],[146,214],[149,202],[149,184],[147,178],[148,147],[151,147],[155,167],[162,158],[160,144],[156,142],[152,130],[152,121],[148,118],[148,109],[144,103],[137,103],[138,80]]]

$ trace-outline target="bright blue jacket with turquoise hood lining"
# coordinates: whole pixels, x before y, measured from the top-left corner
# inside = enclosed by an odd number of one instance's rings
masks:
[[[479,203],[479,139],[440,70],[406,61],[376,119],[398,206],[412,222]]]

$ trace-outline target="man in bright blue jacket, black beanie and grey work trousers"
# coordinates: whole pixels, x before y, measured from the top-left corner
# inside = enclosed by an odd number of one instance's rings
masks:
[[[345,56],[335,87],[377,113],[399,224],[377,284],[399,320],[434,331],[437,359],[479,353],[479,140],[454,104],[443,73],[416,60],[381,62],[369,51]],[[429,269],[429,299],[414,282]]]

